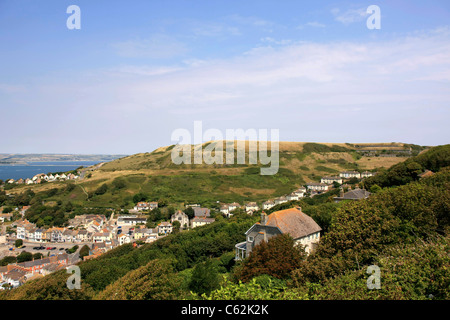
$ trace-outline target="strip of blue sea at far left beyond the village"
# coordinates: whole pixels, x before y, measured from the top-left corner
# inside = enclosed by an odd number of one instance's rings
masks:
[[[28,162],[26,165],[0,165],[0,179],[26,179],[33,178],[38,173],[67,172],[81,166],[89,167],[102,161],[48,161]]]

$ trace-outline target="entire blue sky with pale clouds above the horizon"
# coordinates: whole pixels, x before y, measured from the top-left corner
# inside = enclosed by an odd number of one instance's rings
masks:
[[[0,153],[148,152],[196,120],[446,144],[449,21],[448,1],[0,0]]]

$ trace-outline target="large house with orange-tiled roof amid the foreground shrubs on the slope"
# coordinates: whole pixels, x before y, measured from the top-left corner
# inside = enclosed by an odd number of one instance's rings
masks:
[[[276,211],[268,216],[262,212],[261,221],[245,233],[246,241],[236,244],[236,260],[248,257],[255,246],[280,234],[289,234],[295,245],[303,245],[305,252],[310,254],[320,240],[321,230],[300,207]]]

